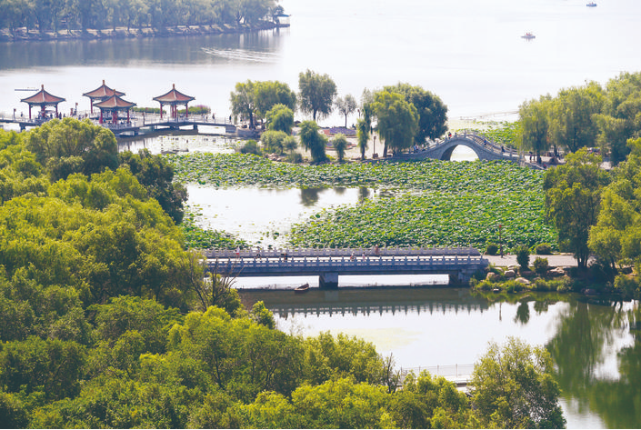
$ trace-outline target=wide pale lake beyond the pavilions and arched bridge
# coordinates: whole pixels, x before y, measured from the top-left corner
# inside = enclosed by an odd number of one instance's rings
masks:
[[[307,68],[339,95],[407,82],[439,95],[449,118],[516,112],[539,95],[641,70],[641,3],[608,0],[283,0],[291,27],[249,35],[0,44],[0,112],[27,112],[39,88],[61,112],[106,84],[139,106],[175,84],[195,104],[228,115],[236,82],[279,80],[297,90]],[[536,39],[521,38],[533,32]],[[348,122],[356,122],[352,116]],[[338,116],[324,125],[344,125]]]

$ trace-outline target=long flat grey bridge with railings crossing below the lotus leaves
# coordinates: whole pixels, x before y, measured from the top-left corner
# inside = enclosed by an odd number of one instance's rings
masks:
[[[321,288],[336,288],[339,275],[449,275],[465,284],[488,265],[474,248],[297,249],[209,251],[210,272],[235,277],[317,275]]]

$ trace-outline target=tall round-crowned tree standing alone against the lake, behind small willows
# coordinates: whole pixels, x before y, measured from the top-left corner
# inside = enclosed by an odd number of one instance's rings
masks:
[[[298,105],[305,114],[312,114],[312,120],[323,119],[332,113],[336,84],[329,75],[318,75],[307,69],[298,75]]]

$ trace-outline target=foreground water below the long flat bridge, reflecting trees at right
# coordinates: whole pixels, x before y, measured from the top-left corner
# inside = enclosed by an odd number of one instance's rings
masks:
[[[398,365],[471,364],[508,335],[546,345],[568,428],[641,428],[638,302],[587,303],[574,295],[474,295],[458,288],[244,291],[302,335],[358,335]]]

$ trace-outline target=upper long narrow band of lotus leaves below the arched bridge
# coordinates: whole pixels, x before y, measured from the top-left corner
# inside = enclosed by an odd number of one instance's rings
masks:
[[[255,155],[165,155],[183,183],[232,187],[378,186],[449,193],[541,194],[543,173],[514,163],[411,163],[287,165]]]

